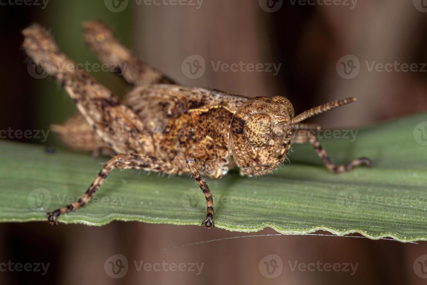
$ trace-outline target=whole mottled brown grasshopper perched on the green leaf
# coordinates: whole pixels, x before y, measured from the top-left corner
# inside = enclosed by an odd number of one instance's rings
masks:
[[[53,37],[35,24],[23,31],[23,47],[32,60],[54,76],[81,112],[62,126],[53,126],[61,140],[74,150],[114,154],[94,182],[74,203],[48,213],[51,224],[60,214],[85,206],[114,168],[160,173],[191,173],[206,198],[204,224],[213,226],[212,194],[200,172],[219,179],[232,167],[240,174],[269,173],[286,159],[292,143],[310,142],[332,173],[371,165],[367,158],[335,166],[312,130],[300,123],[314,115],[354,102],[337,100],[294,116],[290,101],[282,96],[244,97],[204,88],[176,85],[173,80],[133,56],[107,26],[84,24],[85,41],[106,63],[120,64],[134,88],[120,102],[114,94],[75,66],[56,46]],[[184,135],[172,135],[172,134]],[[117,140],[118,138],[126,138]]]

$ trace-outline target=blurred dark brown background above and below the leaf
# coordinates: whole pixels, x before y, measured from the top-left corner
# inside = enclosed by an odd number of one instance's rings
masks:
[[[52,80],[29,76],[20,31],[32,22],[50,27],[61,49],[76,62],[98,62],[82,41],[81,24],[102,19],[118,38],[156,68],[183,85],[216,88],[247,96],[288,97],[296,112],[330,100],[356,96],[351,108],[316,117],[322,126],[365,126],[427,109],[424,0],[204,0],[175,5],[173,0],[125,0],[114,12],[111,1],[19,0],[1,2],[2,112],[0,129],[48,129],[76,108]],[[21,5],[18,5],[21,3]],[[121,4],[120,4],[121,3]],[[138,5],[140,3],[140,5]],[[151,4],[150,4],[151,3]],[[160,5],[155,5],[160,3]],[[194,5],[190,5],[193,3]],[[276,12],[275,9],[280,6]],[[309,5],[313,4],[314,5]],[[166,5],[169,4],[169,5]],[[43,8],[44,6],[44,8]],[[122,6],[123,7],[123,6]],[[206,71],[190,79],[181,63],[201,55]],[[359,73],[345,79],[348,55],[359,60]],[[346,57],[347,56],[347,57]],[[343,58],[344,57],[344,58]],[[343,59],[342,59],[343,58]],[[342,59],[342,60],[341,60]],[[351,58],[354,59],[354,58]],[[214,71],[218,63],[275,63],[274,72]],[[342,65],[342,63],[343,65]],[[416,63],[419,71],[369,71],[375,63]],[[338,66],[338,68],[336,68]],[[350,70],[350,69],[348,69]],[[357,70],[356,70],[357,71]],[[91,73],[119,96],[127,87],[111,73]],[[354,77],[353,77],[354,76]],[[21,140],[41,144],[36,140]],[[58,146],[51,135],[47,146]],[[189,182],[190,183],[190,182]],[[1,186],[0,186],[1,193]],[[0,224],[0,262],[49,262],[47,274],[0,272],[1,284],[425,284],[412,269],[427,244],[371,241],[366,238],[268,236],[214,241],[163,250],[181,244],[243,235],[273,234],[271,229],[244,234],[197,226],[113,222],[102,227],[47,223]],[[123,254],[129,272],[109,277],[105,261]],[[283,271],[267,279],[258,269],[264,256],[277,254]],[[133,261],[204,263],[202,272],[137,272]],[[358,263],[349,272],[292,271],[288,261]]]

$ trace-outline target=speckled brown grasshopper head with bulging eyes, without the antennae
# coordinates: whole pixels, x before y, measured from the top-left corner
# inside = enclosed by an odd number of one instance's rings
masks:
[[[294,111],[284,97],[255,97],[240,105],[231,122],[230,143],[234,161],[248,175],[272,171],[286,158]]]

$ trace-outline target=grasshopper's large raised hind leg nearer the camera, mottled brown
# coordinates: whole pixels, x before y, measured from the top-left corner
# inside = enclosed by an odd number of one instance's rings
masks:
[[[88,124],[116,153],[153,153],[152,138],[143,134],[140,118],[111,91],[79,71],[44,28],[35,24],[26,28],[23,35],[26,53],[61,82]],[[67,68],[63,68],[64,64]]]

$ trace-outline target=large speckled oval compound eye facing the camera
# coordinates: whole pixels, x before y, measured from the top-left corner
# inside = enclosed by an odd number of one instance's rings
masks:
[[[243,131],[246,140],[254,147],[265,146],[272,133],[272,118],[267,114],[255,114],[246,120]]]

